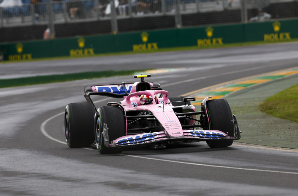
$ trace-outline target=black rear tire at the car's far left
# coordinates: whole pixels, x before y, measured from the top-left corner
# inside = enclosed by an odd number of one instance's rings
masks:
[[[90,146],[94,142],[94,115],[92,103],[70,103],[64,115],[64,132],[71,148]]]

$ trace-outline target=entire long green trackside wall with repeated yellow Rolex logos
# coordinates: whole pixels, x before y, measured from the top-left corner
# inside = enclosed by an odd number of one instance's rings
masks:
[[[179,46],[207,47],[250,41],[298,38],[298,19],[141,31],[123,34],[0,44],[0,60],[19,61],[57,56],[92,56],[121,51],[150,51]]]

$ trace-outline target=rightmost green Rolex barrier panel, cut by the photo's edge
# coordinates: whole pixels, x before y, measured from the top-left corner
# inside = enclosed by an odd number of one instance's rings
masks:
[[[298,20],[244,24],[245,41],[287,41],[298,38]]]

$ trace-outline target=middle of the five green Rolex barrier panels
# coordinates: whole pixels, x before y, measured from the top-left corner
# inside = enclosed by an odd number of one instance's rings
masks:
[[[115,52],[131,50],[143,52],[176,47],[178,46],[177,31],[178,29],[168,29],[116,34],[114,36]]]

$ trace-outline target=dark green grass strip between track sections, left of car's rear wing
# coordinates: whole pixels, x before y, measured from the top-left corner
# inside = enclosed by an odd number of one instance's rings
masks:
[[[82,79],[93,79],[93,78],[103,78],[112,76],[126,76],[134,75],[136,72],[143,72],[145,70],[124,70],[124,71],[102,71],[102,72],[81,72],[81,73],[69,73],[61,75],[46,75],[46,76],[35,76],[35,77],[22,77],[22,78],[12,78],[12,79],[0,79],[0,88],[5,87],[16,87],[16,86],[26,86],[34,84],[45,84],[52,82],[67,82],[73,80]]]

